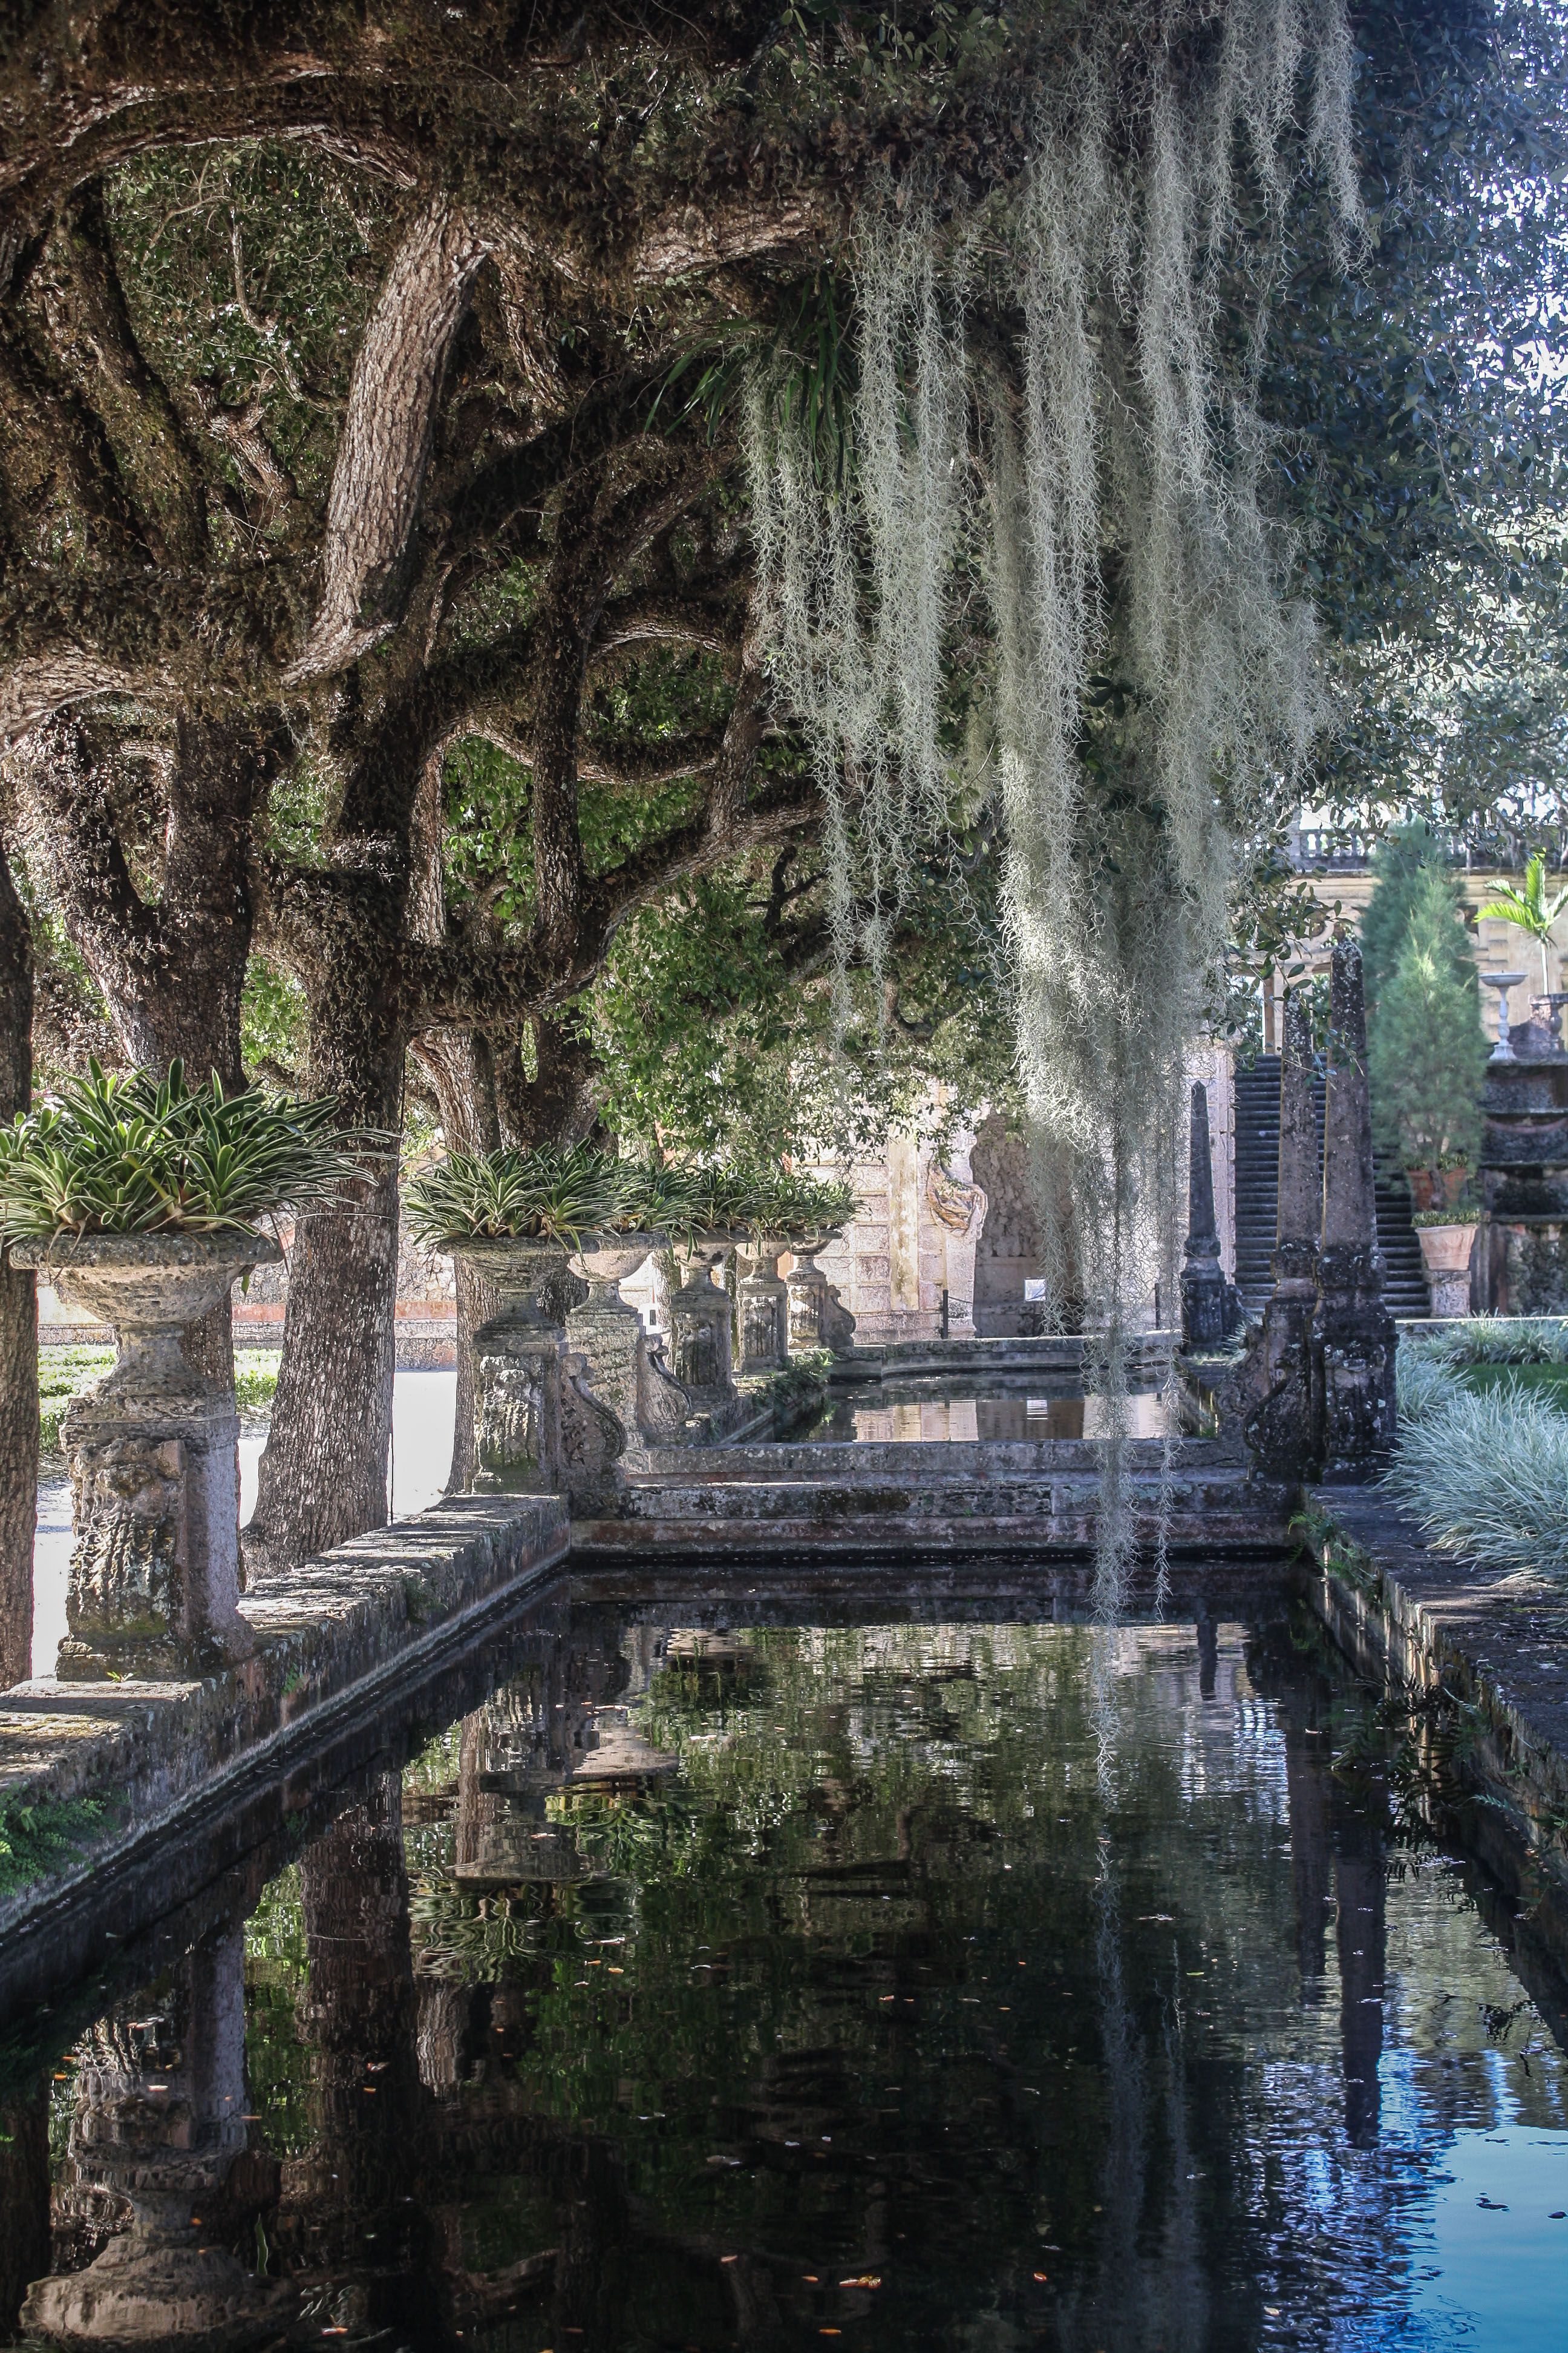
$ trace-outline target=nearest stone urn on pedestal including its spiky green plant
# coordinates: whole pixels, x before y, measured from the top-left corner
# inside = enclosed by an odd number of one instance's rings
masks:
[[[59,1673],[193,1673],[237,1657],[233,1377],[181,1334],[280,1257],[263,1217],[336,1198],[357,1169],[331,1101],[146,1071],[66,1080],[0,1129],[0,1238],[16,1266],[113,1325],[118,1360],[66,1414],[75,1546]],[[360,1139],[364,1141],[364,1139]]]

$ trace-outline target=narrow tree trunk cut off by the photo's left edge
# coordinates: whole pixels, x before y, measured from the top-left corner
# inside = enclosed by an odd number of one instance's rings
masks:
[[[33,944],[0,852],[0,1122],[33,1089]],[[38,1529],[38,1304],[33,1275],[0,1249],[0,1685],[33,1666]]]

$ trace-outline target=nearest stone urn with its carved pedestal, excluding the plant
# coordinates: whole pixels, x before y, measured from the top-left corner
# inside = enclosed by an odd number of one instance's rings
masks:
[[[113,1325],[113,1372],[66,1412],[75,1544],[56,1673],[209,1675],[254,1649],[240,1617],[240,1421],[233,1377],[205,1381],[181,1334],[252,1266],[249,1228],[92,1233],[12,1245],[63,1299]]]

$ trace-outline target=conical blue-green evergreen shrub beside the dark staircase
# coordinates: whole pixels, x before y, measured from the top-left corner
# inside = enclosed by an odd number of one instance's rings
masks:
[[[1403,1167],[1474,1167],[1490,1047],[1481,984],[1448,880],[1420,875],[1368,1038],[1373,1136]]]

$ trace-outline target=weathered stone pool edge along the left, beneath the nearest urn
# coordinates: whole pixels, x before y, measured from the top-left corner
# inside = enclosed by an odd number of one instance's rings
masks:
[[[571,1548],[559,1497],[447,1497],[416,1520],[268,1577],[240,1600],[256,1654],[200,1682],[56,1682],[0,1692],[0,1812],[92,1798],[103,1826],[0,1897],[0,1937],[122,1859],[197,1795],[418,1666],[470,1612],[543,1579]]]

